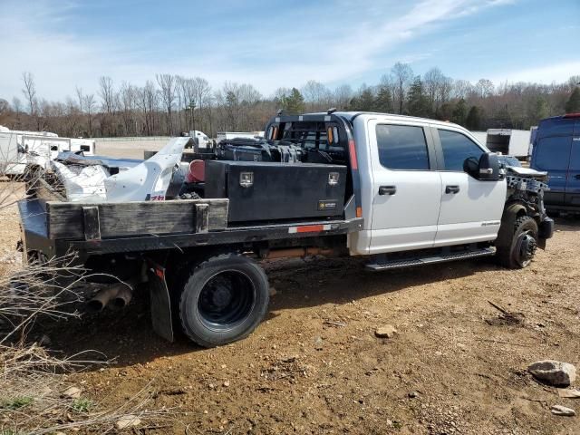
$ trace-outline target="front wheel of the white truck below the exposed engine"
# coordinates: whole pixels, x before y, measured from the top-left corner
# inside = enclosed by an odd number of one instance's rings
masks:
[[[516,219],[511,241],[498,247],[498,261],[509,269],[527,267],[536,254],[537,223],[534,218],[521,216]]]

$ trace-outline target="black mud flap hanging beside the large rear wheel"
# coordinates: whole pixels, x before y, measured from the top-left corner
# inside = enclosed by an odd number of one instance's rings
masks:
[[[149,261],[149,288],[151,324],[153,331],[173,343],[173,319],[171,318],[171,298],[165,281],[165,267]]]

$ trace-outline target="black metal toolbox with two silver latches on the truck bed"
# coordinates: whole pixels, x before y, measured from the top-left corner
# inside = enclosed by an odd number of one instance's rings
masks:
[[[346,167],[206,160],[205,198],[229,198],[229,222],[343,214]]]

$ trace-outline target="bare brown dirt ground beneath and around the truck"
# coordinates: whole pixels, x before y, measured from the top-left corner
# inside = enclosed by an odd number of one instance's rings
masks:
[[[17,266],[18,220],[15,208],[0,215],[2,273]],[[556,223],[547,250],[517,271],[491,260],[382,273],[357,259],[265,263],[266,321],[217,349],[160,339],[145,297],[41,332],[65,355],[115,359],[70,376],[94,401],[121,405],[149,385],[149,409],[179,412],[134,433],[578,434],[578,416],[550,407],[580,413],[580,399],[526,372],[546,358],[580,369],[580,219]],[[384,324],[398,333],[376,338]]]

